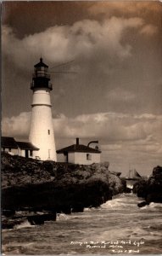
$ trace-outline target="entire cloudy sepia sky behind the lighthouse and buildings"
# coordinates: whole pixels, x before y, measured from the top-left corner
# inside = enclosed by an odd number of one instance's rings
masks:
[[[162,165],[162,3],[3,2],[2,22],[3,136],[28,139],[42,56],[57,149],[98,140],[123,175]]]

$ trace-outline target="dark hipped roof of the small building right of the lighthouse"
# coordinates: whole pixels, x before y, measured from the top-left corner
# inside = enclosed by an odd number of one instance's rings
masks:
[[[68,152],[98,153],[98,154],[101,153],[101,151],[96,148],[90,148],[90,147],[87,147],[87,146],[81,145],[81,144],[78,144],[78,145],[73,144],[69,147],[61,148],[61,149],[57,150],[56,152],[58,154],[68,153]]]

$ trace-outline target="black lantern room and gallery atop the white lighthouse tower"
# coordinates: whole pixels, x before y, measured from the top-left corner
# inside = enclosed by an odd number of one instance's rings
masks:
[[[34,90],[36,88],[47,88],[49,90],[53,90],[53,86],[49,82],[50,75],[47,69],[48,66],[45,63],[43,63],[42,58],[40,58],[40,61],[34,66],[31,90]]]

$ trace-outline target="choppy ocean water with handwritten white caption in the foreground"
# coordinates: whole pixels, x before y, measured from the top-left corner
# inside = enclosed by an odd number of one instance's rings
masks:
[[[4,254],[161,254],[162,204],[139,208],[133,194],[116,195],[98,208],[31,226],[3,230]]]

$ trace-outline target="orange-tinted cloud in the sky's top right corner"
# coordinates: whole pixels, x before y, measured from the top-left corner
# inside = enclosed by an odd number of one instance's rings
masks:
[[[96,2],[88,8],[89,13],[94,18],[108,19],[112,15],[116,17],[124,16],[130,18],[136,16],[143,21],[141,33],[143,35],[152,36],[158,32],[159,21],[162,14],[161,3],[154,1],[115,1],[115,2]],[[156,17],[159,19],[155,20]],[[160,31],[159,31],[160,32]]]

